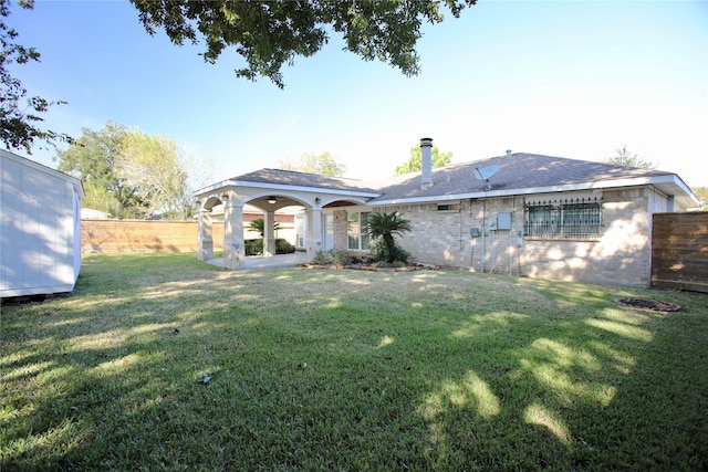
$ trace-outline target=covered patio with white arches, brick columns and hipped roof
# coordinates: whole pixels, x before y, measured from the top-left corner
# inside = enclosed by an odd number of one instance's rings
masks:
[[[301,207],[305,212],[306,261],[323,250],[323,208],[366,204],[379,193],[362,181],[280,169],[261,169],[214,183],[195,196],[198,211],[197,258],[212,261],[211,212],[223,206],[223,266],[246,268],[243,206],[263,211],[263,255],[275,255],[273,222],[275,212],[285,207]]]

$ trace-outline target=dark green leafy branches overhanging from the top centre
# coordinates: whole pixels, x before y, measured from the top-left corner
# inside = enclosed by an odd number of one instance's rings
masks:
[[[366,61],[378,59],[407,76],[418,74],[415,46],[424,22],[440,23],[445,3],[455,18],[476,0],[230,1],[131,0],[145,30],[164,29],[173,43],[206,43],[206,62],[215,63],[233,46],[247,63],[238,77],[268,77],[283,87],[281,69],[296,56],[311,56],[342,34],[345,50]]]

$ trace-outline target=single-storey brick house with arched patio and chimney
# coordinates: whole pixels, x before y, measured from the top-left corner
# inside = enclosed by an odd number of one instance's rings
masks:
[[[413,227],[399,243],[419,263],[646,287],[652,213],[699,203],[668,171],[511,151],[433,169],[430,148],[421,139],[421,172],[379,183],[261,169],[201,189],[198,256],[212,254],[209,213],[218,204],[230,269],[243,264],[246,202],[267,221],[280,208],[303,208],[309,256],[366,251],[367,213],[398,211]]]

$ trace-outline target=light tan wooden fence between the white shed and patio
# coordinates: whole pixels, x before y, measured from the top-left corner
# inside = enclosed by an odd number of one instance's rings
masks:
[[[81,252],[197,252],[196,221],[82,220]],[[211,224],[214,249],[223,249],[223,223]]]

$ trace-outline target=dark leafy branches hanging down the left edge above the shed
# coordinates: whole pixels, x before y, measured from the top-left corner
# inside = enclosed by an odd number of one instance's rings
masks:
[[[34,8],[32,0],[20,0],[18,6],[25,9]],[[34,48],[25,48],[15,43],[18,32],[6,24],[6,18],[10,15],[10,0],[0,0],[0,139],[8,149],[24,148],[31,154],[32,145],[37,139],[51,145],[54,141],[71,143],[72,138],[51,129],[42,129],[40,123],[44,119],[40,116],[51,106],[65,102],[50,102],[40,96],[27,98],[27,105],[22,101],[27,96],[27,88],[22,82],[10,74],[8,70],[12,64],[27,64],[40,61],[40,53]]]

